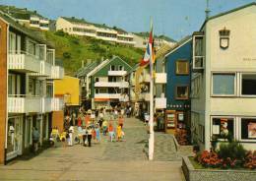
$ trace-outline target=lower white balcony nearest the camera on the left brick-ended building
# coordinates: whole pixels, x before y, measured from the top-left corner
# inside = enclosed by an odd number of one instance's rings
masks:
[[[8,95],[9,113],[30,113],[41,111],[41,98],[31,95]]]

